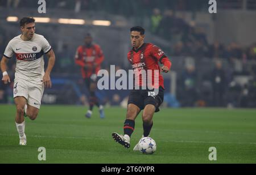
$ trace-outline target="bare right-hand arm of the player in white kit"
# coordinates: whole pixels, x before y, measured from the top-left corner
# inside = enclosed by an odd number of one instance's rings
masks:
[[[44,82],[44,87],[50,88],[50,87],[52,87],[50,74],[51,74],[52,68],[53,68],[54,63],[55,63],[55,54],[54,54],[53,50],[51,49],[51,51],[48,52],[46,54],[46,56],[49,58],[49,60],[48,60],[48,66],[47,66],[47,69],[46,69],[46,73],[43,76],[43,82]]]

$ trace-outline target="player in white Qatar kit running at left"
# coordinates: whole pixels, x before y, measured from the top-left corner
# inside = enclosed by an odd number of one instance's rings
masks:
[[[22,34],[14,37],[6,46],[1,59],[2,81],[10,83],[7,73],[8,60],[16,56],[16,70],[14,79],[14,102],[16,105],[15,123],[19,133],[19,144],[26,145],[24,133],[24,115],[34,120],[38,116],[44,87],[52,86],[50,73],[55,63],[55,54],[48,41],[35,33],[35,19],[22,18],[20,20]],[[44,72],[43,54],[48,57],[48,66]]]

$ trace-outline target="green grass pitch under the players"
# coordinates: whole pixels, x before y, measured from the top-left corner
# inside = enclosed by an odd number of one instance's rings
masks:
[[[42,105],[35,121],[26,118],[27,146],[18,146],[14,105],[0,105],[0,163],[256,163],[256,109],[183,108],[155,113],[151,137],[153,155],[134,152],[141,138],[141,114],[136,119],[131,148],[112,139],[123,133],[126,109],[98,109],[84,117],[83,106]],[[46,161],[38,148],[46,148]],[[209,161],[209,147],[217,160]]]

